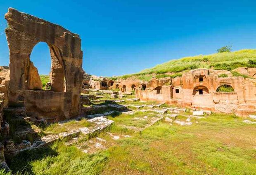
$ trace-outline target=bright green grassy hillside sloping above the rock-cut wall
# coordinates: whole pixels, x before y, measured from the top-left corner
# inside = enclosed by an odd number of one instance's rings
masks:
[[[216,53],[211,55],[185,57],[156,65],[153,68],[145,69],[135,74],[116,77],[115,79],[127,79],[129,77],[132,77],[148,81],[152,78],[152,76],[155,76],[156,78],[176,77],[181,76],[182,72],[197,68],[233,70],[238,67],[256,67],[256,49],[244,49],[239,51]],[[171,74],[168,72],[171,72]]]

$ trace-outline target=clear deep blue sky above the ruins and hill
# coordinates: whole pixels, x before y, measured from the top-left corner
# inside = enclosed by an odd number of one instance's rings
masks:
[[[138,72],[221,46],[256,48],[255,0],[1,0],[0,65],[8,65],[8,7],[57,23],[82,38],[83,68],[93,75]],[[31,60],[50,72],[46,44]]]

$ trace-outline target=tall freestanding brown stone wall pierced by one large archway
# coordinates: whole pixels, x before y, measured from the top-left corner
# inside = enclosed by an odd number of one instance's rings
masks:
[[[9,8],[5,33],[9,47],[9,107],[25,107],[29,114],[55,120],[79,115],[83,82],[81,39],[59,25]],[[45,42],[52,57],[52,91],[31,91],[30,54]],[[64,72],[64,73],[63,73]],[[59,85],[66,79],[64,84]]]

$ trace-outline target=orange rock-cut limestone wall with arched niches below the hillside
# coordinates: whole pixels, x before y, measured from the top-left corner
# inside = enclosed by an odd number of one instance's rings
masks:
[[[254,69],[247,70],[253,74]],[[218,77],[220,74],[228,77]],[[216,112],[237,112],[249,114],[256,112],[256,79],[244,79],[244,77],[232,77],[226,70],[195,69],[183,73],[182,77],[171,80],[171,87],[161,93],[154,90],[159,87],[155,79],[150,83],[151,88],[145,91],[136,89],[136,96],[141,100],[156,100],[174,104],[181,107],[193,107]],[[148,84],[149,85],[149,84]],[[219,86],[231,86],[233,92],[217,92]],[[169,95],[171,94],[171,95]]]

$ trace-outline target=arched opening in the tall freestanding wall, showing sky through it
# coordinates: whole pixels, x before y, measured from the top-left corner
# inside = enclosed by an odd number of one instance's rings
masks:
[[[65,73],[57,47],[38,42],[29,59],[27,89],[66,92]]]

